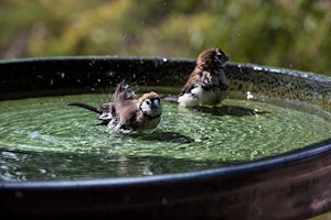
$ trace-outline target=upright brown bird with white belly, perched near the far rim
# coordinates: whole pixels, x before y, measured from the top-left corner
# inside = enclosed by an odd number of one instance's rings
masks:
[[[202,52],[194,70],[181,89],[178,102],[183,107],[216,106],[225,97],[228,87],[225,65],[228,56],[220,48]]]

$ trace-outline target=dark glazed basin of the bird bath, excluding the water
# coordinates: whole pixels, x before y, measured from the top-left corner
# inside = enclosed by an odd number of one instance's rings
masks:
[[[193,59],[54,57],[0,62],[0,100],[115,86],[180,87]],[[330,78],[250,64],[227,66],[236,96],[276,97],[331,113]],[[330,133],[331,138],[331,133]],[[331,210],[331,139],[246,163],[197,172],[89,180],[0,182],[11,218],[307,219]]]

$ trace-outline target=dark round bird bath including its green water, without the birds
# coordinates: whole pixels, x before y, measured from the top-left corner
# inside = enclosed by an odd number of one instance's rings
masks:
[[[220,108],[161,100],[162,121],[145,133],[109,133],[66,106],[109,101],[124,78],[138,92],[177,94],[193,67],[107,56],[0,62],[1,211],[284,219],[330,210],[328,77],[231,63]]]

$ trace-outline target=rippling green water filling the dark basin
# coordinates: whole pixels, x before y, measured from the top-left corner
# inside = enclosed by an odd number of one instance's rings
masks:
[[[329,120],[266,102],[226,99],[215,109],[162,100],[158,129],[114,133],[97,114],[68,107],[105,94],[0,102],[0,180],[145,176],[231,165],[329,139]]]

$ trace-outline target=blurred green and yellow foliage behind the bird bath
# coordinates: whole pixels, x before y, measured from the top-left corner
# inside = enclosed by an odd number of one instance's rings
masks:
[[[0,58],[196,58],[331,76],[329,0],[1,0]]]

